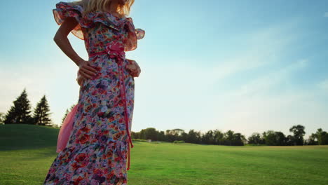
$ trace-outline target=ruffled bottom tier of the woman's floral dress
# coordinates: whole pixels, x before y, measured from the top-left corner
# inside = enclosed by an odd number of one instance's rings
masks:
[[[127,144],[120,141],[84,146],[69,145],[58,153],[50,166],[45,183],[78,182],[78,171],[80,174],[88,174],[83,178],[89,184],[102,184],[104,181],[119,181],[126,184],[126,148]]]

